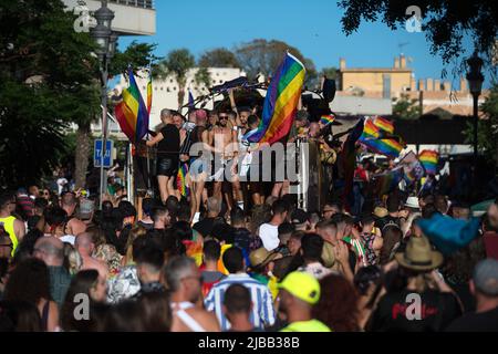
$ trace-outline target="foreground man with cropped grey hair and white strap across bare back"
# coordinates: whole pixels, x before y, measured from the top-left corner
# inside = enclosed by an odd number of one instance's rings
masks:
[[[168,262],[163,272],[170,291],[172,332],[219,332],[214,313],[203,308],[200,272],[194,259],[181,256]]]

